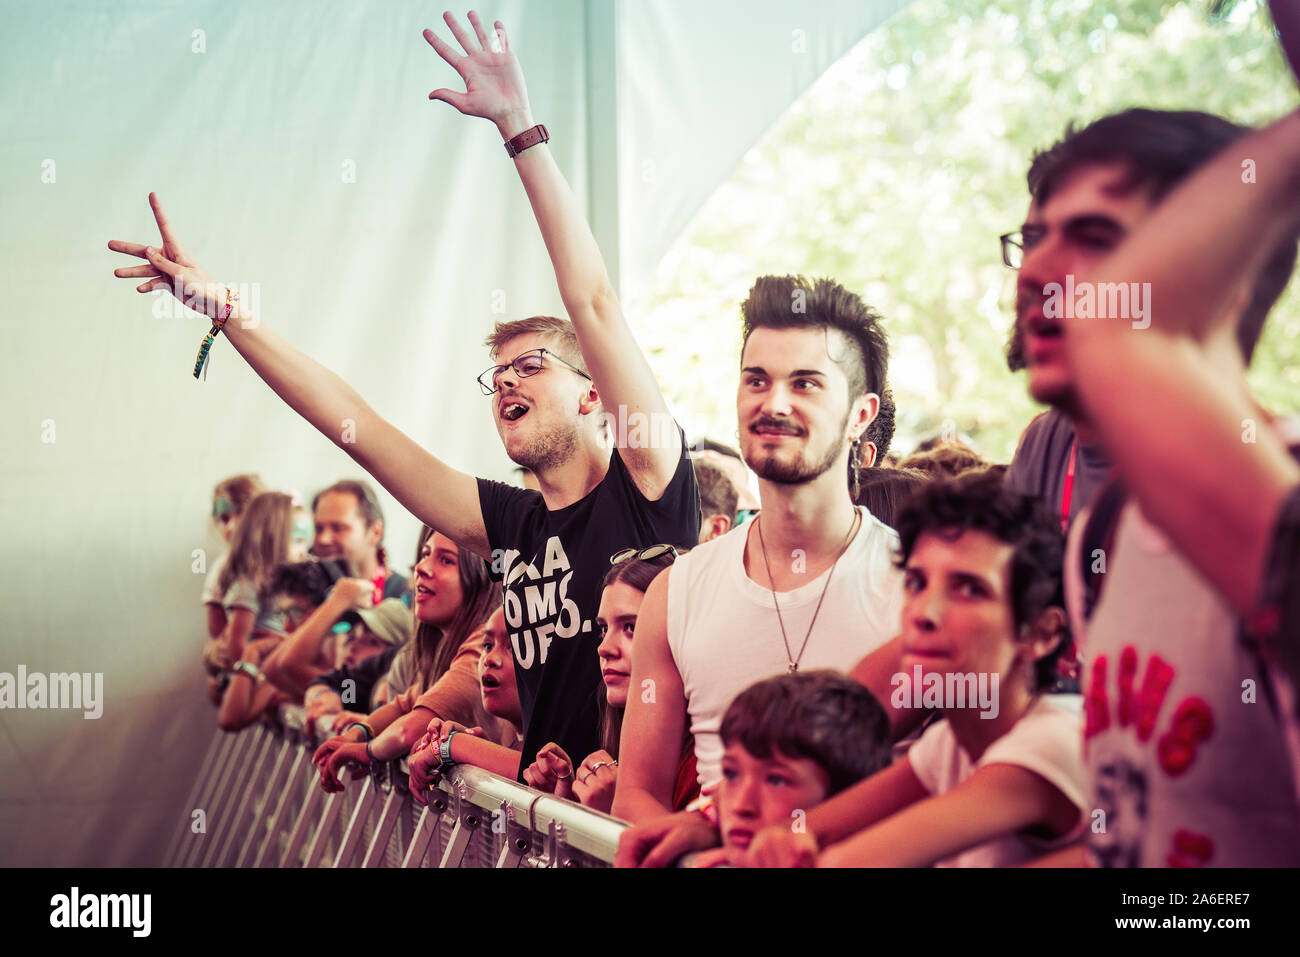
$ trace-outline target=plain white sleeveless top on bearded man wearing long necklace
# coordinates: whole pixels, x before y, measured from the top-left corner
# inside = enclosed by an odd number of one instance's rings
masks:
[[[858,532],[833,570],[793,592],[777,592],[790,657],[798,658],[812,611],[833,572],[826,601],[800,658],[800,671],[852,671],[898,633],[902,572],[893,557],[898,534],[864,507]],[[668,648],[686,696],[699,783],[722,778],[723,714],[742,690],[789,671],[772,593],[745,573],[749,523],[679,558],[668,573]],[[798,555],[770,555],[797,562]]]

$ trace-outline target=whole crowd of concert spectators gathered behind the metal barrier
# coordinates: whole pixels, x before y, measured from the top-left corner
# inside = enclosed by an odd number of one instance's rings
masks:
[[[568,315],[486,339],[521,488],[277,337],[155,196],[161,244],[110,243],[424,523],[403,579],[364,481],[309,511],[216,488],[222,728],[300,701],[325,789],[406,758],[424,801],[476,765],[629,822],[623,866],[1300,865],[1300,429],[1244,376],[1296,260],[1300,113],[1044,130],[1001,252],[1048,411],[1010,463],[892,456],[888,320],[800,276],[741,304],[740,447],[689,445],[624,428],[673,420],[504,27],[446,22],[465,90],[430,99],[497,125]]]

